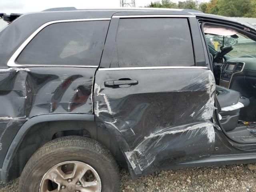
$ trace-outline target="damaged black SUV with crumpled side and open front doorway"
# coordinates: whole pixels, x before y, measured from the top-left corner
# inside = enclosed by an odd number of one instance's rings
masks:
[[[119,165],[136,179],[256,162],[254,26],[193,10],[0,16],[0,180],[20,176],[20,192],[116,192]]]

